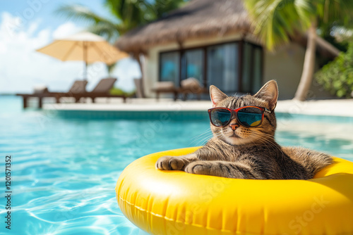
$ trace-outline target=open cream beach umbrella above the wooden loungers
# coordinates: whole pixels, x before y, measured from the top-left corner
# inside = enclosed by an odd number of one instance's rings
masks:
[[[128,54],[110,45],[103,37],[91,32],[79,32],[68,37],[56,39],[51,44],[37,49],[61,61],[84,61],[84,79],[87,79],[88,63],[103,62],[111,65]]]

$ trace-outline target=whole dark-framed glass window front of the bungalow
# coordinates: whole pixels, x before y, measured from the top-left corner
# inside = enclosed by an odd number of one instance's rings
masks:
[[[263,49],[251,42],[228,42],[160,53],[160,81],[179,87],[181,80],[195,77],[226,94],[255,93],[262,85]]]

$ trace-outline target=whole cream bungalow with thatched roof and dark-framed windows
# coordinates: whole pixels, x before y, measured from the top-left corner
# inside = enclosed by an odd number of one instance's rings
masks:
[[[318,37],[318,55],[337,56],[337,49]],[[292,99],[304,63],[306,38],[299,35],[275,53],[263,48],[242,0],[192,0],[155,22],[124,34],[122,51],[143,54],[144,93],[154,96],[156,82],[195,77],[227,94],[254,93],[277,80],[280,99]],[[328,96],[318,85],[311,95]]]

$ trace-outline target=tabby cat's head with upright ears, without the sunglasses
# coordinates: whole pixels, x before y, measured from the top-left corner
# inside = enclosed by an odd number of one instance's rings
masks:
[[[270,111],[264,112],[263,122],[257,127],[241,125],[235,115],[224,127],[215,127],[211,124],[213,135],[231,145],[264,144],[273,139],[276,129],[275,107],[277,104],[278,87],[275,80],[267,82],[255,95],[227,96],[215,86],[210,87],[210,96],[213,108],[224,107],[232,110],[244,106],[258,106]]]

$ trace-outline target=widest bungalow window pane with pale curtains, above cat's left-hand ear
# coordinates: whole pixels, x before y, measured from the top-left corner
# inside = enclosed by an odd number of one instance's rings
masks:
[[[237,43],[208,47],[208,85],[215,85],[225,93],[239,90],[238,47]]]

